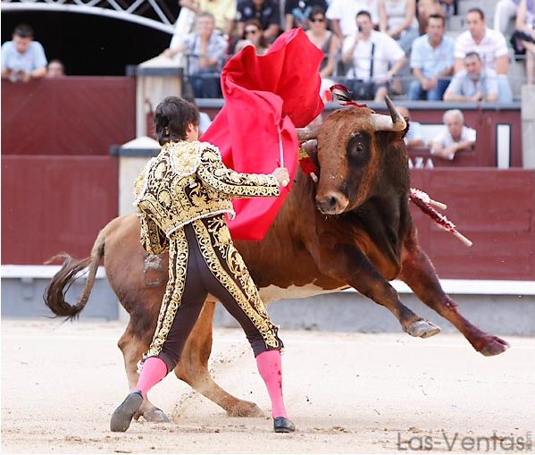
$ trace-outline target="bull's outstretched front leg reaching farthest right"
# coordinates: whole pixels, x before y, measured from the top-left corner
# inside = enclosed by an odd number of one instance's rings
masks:
[[[402,259],[399,278],[408,284],[423,303],[454,324],[475,350],[484,356],[496,356],[509,347],[506,341],[482,332],[459,313],[456,302],[442,290],[435,268],[420,248],[414,231],[405,239]]]

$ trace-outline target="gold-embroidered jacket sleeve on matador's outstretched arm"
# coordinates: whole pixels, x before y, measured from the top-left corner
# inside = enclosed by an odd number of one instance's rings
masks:
[[[219,151],[211,147],[202,152],[197,174],[213,190],[230,198],[274,197],[280,194],[279,183],[273,175],[232,171],[222,163]]]

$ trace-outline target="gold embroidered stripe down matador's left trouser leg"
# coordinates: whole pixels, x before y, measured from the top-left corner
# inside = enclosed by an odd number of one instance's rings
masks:
[[[163,294],[162,307],[158,315],[158,324],[153,341],[143,358],[157,356],[167,340],[171,325],[182,301],[186,272],[188,269],[188,240],[186,233],[180,229],[171,236],[169,249],[169,281]]]

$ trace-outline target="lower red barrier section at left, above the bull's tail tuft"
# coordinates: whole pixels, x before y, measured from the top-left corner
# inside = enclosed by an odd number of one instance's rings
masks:
[[[110,156],[2,156],[2,264],[88,257],[117,216],[117,181]]]

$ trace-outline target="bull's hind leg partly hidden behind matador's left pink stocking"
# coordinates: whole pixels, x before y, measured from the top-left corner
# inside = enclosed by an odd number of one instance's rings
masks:
[[[146,336],[140,339],[134,331],[135,326],[136,324],[133,324],[130,320],[125,332],[117,343],[124,358],[124,368],[128,377],[130,390],[135,389],[138,384],[138,361],[148,349],[152,340],[150,333],[146,333]],[[143,400],[141,408],[139,408],[134,418],[138,419],[140,416],[143,416],[148,422],[169,422],[169,418],[163,410],[156,408],[147,398]]]

